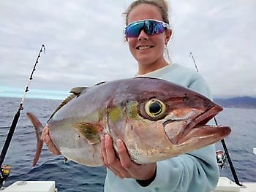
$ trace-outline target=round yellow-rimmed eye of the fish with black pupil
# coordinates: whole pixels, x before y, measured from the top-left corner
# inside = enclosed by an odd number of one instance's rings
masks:
[[[158,118],[165,112],[165,104],[158,99],[151,99],[145,105],[146,113],[151,118]]]

